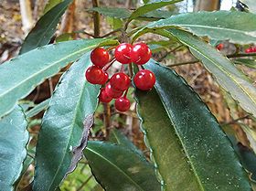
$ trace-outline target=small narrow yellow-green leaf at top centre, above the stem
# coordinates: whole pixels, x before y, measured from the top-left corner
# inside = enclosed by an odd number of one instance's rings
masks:
[[[159,1],[159,2],[155,2],[155,3],[145,4],[145,5],[137,8],[135,11],[133,11],[132,15],[129,17],[128,20],[132,21],[133,19],[135,19],[139,16],[143,16],[144,14],[146,14],[148,12],[154,11],[154,10],[161,8],[163,6],[166,6],[166,5],[175,4],[180,1],[182,1],[182,0],[168,0],[168,1]]]

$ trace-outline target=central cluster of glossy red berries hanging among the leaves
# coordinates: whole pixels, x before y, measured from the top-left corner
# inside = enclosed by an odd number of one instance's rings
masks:
[[[104,48],[95,48],[91,52],[91,62],[93,66],[86,70],[86,79],[92,84],[104,85],[101,88],[99,99],[101,102],[114,102],[118,111],[127,111],[131,103],[126,98],[126,94],[131,85],[131,78],[123,71],[115,73],[109,80],[107,69],[117,60],[122,64],[143,65],[151,58],[151,50],[144,43],[134,45],[123,43],[114,50],[114,59],[110,61],[110,55]],[[155,74],[148,69],[140,69],[133,77],[133,83],[140,90],[151,90],[155,85]]]

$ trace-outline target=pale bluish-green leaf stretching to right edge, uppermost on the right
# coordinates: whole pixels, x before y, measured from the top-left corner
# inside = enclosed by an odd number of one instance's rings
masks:
[[[230,22],[232,21],[232,22]],[[182,27],[197,36],[208,36],[216,40],[249,44],[256,41],[256,15],[244,12],[197,12],[171,16],[150,23],[137,32],[144,34],[146,28]]]

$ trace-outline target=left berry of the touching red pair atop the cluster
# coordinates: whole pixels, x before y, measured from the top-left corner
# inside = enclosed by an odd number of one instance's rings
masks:
[[[115,48],[114,57],[122,64],[130,64],[132,62],[130,58],[132,48],[133,46],[128,43],[122,43]]]

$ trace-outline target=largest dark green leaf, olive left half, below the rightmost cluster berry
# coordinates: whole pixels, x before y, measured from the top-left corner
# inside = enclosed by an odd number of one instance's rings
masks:
[[[149,61],[155,89],[136,90],[137,111],[166,191],[246,191],[248,177],[219,123],[185,80]]]

